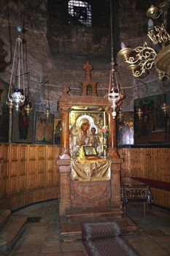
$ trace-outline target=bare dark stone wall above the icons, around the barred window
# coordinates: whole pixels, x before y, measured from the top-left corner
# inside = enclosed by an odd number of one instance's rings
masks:
[[[22,2],[22,1],[21,1]],[[50,107],[58,116],[57,101],[63,86],[68,84],[71,94],[80,94],[81,80],[85,73],[82,65],[86,61],[93,64],[92,79],[98,82],[99,96],[107,94],[110,70],[110,24],[109,1],[88,1],[93,5],[93,26],[86,28],[80,24],[67,23],[66,0],[27,1],[25,7],[25,29],[28,71],[31,74],[30,91],[36,110],[45,110],[47,84],[50,88]],[[115,48],[123,41],[125,45],[136,47],[147,40],[147,18],[145,12],[153,1],[118,1],[114,18],[116,36]],[[0,45],[1,79],[9,82],[12,69],[11,56],[14,53],[16,27],[19,23],[20,7],[18,1],[1,1]],[[22,11],[22,7],[21,7]],[[118,21],[118,23],[116,23]],[[140,78],[139,82],[131,76],[120,59],[117,59],[126,99],[124,110],[133,110],[133,101],[139,83],[139,96],[145,97],[162,92],[162,83],[155,71]],[[166,86],[169,89],[169,84]]]

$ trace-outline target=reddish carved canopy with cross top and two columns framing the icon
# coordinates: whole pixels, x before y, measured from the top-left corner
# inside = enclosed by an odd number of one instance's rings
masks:
[[[76,109],[105,110],[108,113],[109,124],[109,148],[108,156],[111,158],[119,158],[117,154],[117,135],[116,135],[116,118],[112,117],[111,104],[106,97],[98,97],[96,94],[96,82],[91,80],[92,65],[87,62],[83,68],[85,69],[86,80],[82,80],[82,95],[72,96],[69,94],[69,86],[64,86],[63,94],[58,100],[59,112],[61,113],[61,159],[70,159],[69,157],[69,113]]]

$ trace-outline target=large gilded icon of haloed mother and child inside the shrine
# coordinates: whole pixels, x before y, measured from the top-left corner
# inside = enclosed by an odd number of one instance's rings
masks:
[[[69,147],[72,158],[80,157],[81,146],[94,146],[98,157],[104,157],[105,111],[72,110],[69,120]]]

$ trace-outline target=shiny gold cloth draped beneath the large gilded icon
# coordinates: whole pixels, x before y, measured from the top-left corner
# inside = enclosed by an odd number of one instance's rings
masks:
[[[71,161],[71,178],[74,181],[104,181],[110,179],[109,159]]]

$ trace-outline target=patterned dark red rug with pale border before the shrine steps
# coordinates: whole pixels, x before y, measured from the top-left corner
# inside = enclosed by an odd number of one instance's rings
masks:
[[[138,256],[121,233],[117,222],[82,223],[82,244],[89,256]]]

